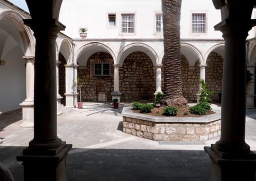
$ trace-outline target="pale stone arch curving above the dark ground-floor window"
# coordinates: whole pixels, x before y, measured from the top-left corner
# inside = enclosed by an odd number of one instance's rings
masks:
[[[117,63],[113,51],[108,46],[99,42],[91,42],[84,44],[77,50],[74,55],[74,59],[76,60],[75,64],[79,62],[80,66],[86,66],[89,57],[99,51],[109,53],[113,58],[114,64]]]

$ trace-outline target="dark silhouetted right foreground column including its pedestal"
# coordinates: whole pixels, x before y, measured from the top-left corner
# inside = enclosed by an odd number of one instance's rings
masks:
[[[216,4],[215,4],[216,5]],[[245,39],[255,19],[252,0],[229,1],[214,26],[225,41],[220,139],[204,149],[211,159],[211,180],[255,180],[256,154],[245,143]],[[238,12],[238,13],[237,13]]]

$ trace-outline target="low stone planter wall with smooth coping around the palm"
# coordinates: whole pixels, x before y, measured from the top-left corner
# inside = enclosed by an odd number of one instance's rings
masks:
[[[123,107],[123,132],[155,141],[205,141],[220,136],[220,114],[201,117],[157,117]]]

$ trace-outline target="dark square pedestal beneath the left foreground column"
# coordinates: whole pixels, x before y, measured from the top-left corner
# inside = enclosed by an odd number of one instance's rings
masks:
[[[55,155],[47,155],[47,150],[46,155],[17,155],[17,161],[22,161],[24,166],[24,180],[66,180],[66,155],[71,147],[71,144],[65,144]]]

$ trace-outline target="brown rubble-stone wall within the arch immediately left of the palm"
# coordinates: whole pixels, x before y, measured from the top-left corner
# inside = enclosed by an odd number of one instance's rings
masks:
[[[155,68],[147,54],[130,53],[119,68],[119,90],[122,102],[154,100]]]

